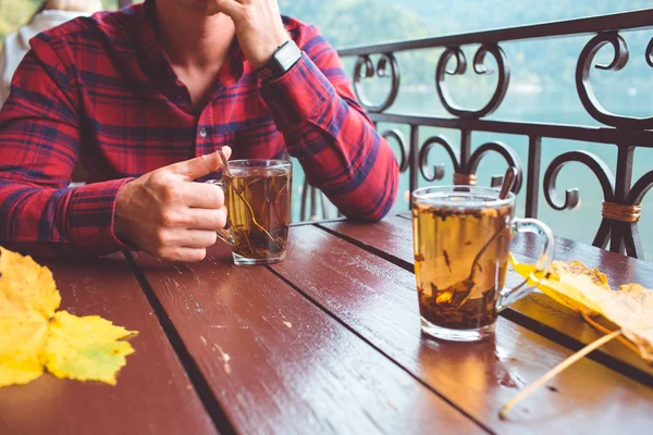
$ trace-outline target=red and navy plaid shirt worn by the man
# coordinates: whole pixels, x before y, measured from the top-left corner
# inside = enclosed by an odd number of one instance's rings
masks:
[[[120,188],[224,145],[235,159],[289,153],[345,215],[383,217],[396,197],[392,149],[333,48],[315,27],[284,22],[301,60],[261,86],[234,41],[200,113],[157,40],[151,0],[35,37],[0,112],[0,245],[28,253],[127,249],[113,233]],[[67,187],[78,161],[88,184]]]

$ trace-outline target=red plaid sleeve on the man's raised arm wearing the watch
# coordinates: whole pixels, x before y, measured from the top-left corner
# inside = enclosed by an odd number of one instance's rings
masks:
[[[352,92],[336,51],[310,29],[296,39],[299,62],[261,96],[311,186],[346,216],[378,221],[396,200],[394,152]]]

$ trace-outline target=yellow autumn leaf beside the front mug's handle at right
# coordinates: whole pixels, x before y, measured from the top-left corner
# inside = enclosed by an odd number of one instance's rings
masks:
[[[517,273],[529,277],[534,266],[510,257]],[[554,261],[532,284],[552,299],[583,314],[602,315],[621,331],[640,356],[653,363],[653,290],[628,284],[614,290],[605,274],[579,261]]]

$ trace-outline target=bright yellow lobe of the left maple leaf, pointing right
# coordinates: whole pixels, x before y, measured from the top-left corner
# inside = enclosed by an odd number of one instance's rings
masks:
[[[97,316],[78,318],[59,311],[48,334],[44,362],[57,377],[101,381],[115,385],[115,374],[134,353],[127,341],[118,341],[134,333]]]

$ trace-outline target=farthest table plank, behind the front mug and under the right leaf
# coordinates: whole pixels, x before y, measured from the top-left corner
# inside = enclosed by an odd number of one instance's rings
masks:
[[[412,227],[405,214],[389,216],[375,225],[342,222],[320,226],[406,270],[412,270]],[[533,258],[539,252],[537,239],[530,235],[517,237],[513,252]],[[560,237],[556,238],[555,259],[579,260],[589,266],[599,268],[606,273],[613,286],[637,282],[653,288],[653,263],[650,262]],[[508,271],[506,285],[517,285],[521,281],[512,269]],[[539,291],[514,303],[502,315],[571,349],[579,349],[602,335],[578,313]],[[653,368],[618,340],[603,346],[592,353],[592,358],[646,385],[653,385]]]

